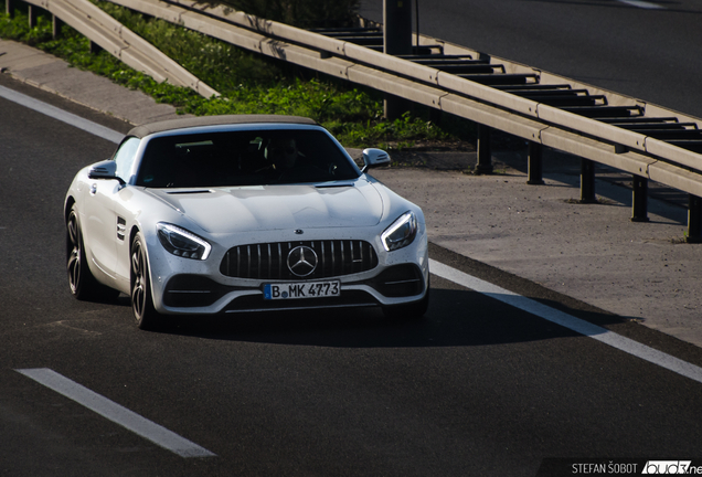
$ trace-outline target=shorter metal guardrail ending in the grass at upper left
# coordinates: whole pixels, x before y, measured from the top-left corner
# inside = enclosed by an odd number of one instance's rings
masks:
[[[88,0],[25,0],[47,10],[110,54],[156,81],[190,87],[205,97],[220,94]]]

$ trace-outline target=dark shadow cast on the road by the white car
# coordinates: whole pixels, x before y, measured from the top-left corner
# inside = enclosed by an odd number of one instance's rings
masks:
[[[541,303],[597,325],[625,321],[614,315]],[[377,308],[352,308],[168,319],[159,331],[212,340],[344,348],[480,346],[579,336],[485,295],[442,287],[432,289],[429,310],[422,319],[389,319]]]

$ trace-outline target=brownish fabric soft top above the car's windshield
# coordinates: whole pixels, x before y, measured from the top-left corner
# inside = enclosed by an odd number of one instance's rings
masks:
[[[302,124],[317,125],[310,118],[300,116],[283,116],[283,115],[222,115],[222,116],[200,116],[182,119],[168,119],[158,123],[137,126],[131,129],[127,136],[142,138],[150,134],[163,132],[173,129],[182,129],[199,126],[224,126],[235,124],[256,124],[256,123],[283,123],[283,124]]]

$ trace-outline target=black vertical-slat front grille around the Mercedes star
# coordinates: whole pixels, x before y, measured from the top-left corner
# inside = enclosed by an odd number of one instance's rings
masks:
[[[290,251],[299,245],[317,254],[317,267],[304,277],[292,274],[287,264]],[[327,240],[238,245],[226,252],[220,272],[237,278],[307,280],[366,272],[375,266],[377,255],[370,243]]]

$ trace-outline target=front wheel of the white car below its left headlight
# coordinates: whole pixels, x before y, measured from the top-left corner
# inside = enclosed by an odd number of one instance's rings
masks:
[[[158,328],[159,314],[153,308],[151,277],[141,234],[135,235],[130,248],[131,262],[131,311],[137,327],[143,330]]]

